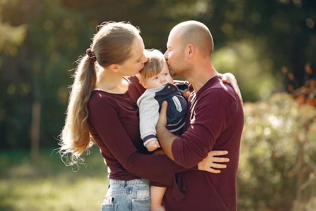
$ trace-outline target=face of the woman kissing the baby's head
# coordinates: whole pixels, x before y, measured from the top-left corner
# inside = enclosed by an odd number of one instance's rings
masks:
[[[145,45],[140,35],[137,35],[131,46],[131,57],[120,65],[120,70],[124,76],[136,75],[144,67],[148,60],[144,55]]]

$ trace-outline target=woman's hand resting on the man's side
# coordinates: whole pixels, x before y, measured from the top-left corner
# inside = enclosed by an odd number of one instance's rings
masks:
[[[201,162],[197,164],[198,170],[206,171],[209,173],[219,174],[221,170],[217,170],[215,168],[226,168],[226,164],[220,164],[219,162],[229,162],[228,157],[215,157],[219,155],[226,155],[228,151],[210,151],[208,152],[207,157],[205,157]]]

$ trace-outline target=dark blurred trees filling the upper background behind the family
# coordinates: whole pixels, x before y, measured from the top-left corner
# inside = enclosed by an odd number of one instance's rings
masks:
[[[189,19],[205,23],[215,39],[213,62],[219,72],[236,75],[244,101],[284,91],[282,66],[300,77],[305,63],[315,65],[315,1],[0,0],[0,4],[0,133],[5,148],[29,147],[36,101],[41,104],[40,143],[56,146],[72,84],[69,70],[103,21],[130,21],[141,28],[146,48],[162,51],[175,24]]]

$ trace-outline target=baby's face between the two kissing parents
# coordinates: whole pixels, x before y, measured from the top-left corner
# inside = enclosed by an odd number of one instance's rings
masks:
[[[164,62],[162,71],[152,77],[145,78],[143,81],[143,86],[146,89],[152,89],[165,86],[166,83],[173,84],[173,78],[170,75],[167,62]]]

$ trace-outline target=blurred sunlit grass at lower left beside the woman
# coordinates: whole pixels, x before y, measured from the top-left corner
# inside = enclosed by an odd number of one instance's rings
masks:
[[[78,172],[50,153],[32,162],[28,152],[0,152],[0,210],[100,210],[107,169],[97,147]]]

